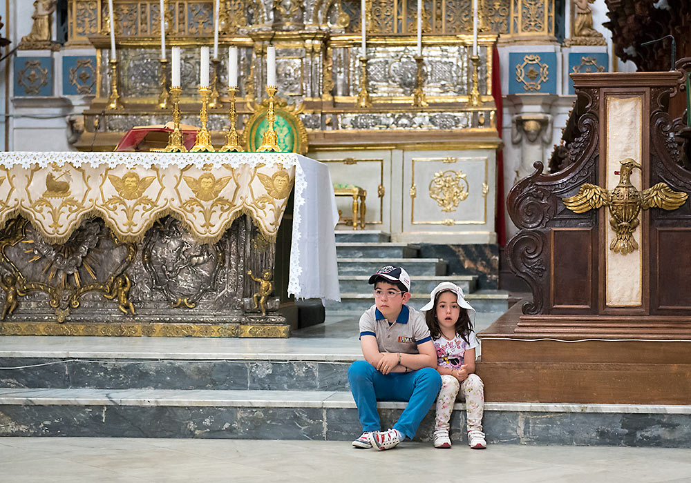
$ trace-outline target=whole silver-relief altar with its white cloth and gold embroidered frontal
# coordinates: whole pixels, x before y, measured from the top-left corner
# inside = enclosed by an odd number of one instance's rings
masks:
[[[337,221],[294,153],[0,153],[0,334],[287,337],[339,300]]]

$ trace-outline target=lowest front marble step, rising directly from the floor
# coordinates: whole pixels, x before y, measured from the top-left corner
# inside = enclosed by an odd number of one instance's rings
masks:
[[[382,427],[391,427],[405,406],[379,402]],[[464,409],[457,403],[451,415],[451,439],[461,448]],[[3,388],[0,414],[0,436],[348,442],[360,433],[357,408],[345,391]],[[688,447],[690,414],[691,406],[487,402],[482,422],[489,444]],[[415,439],[430,442],[433,425],[431,409]],[[674,431],[661,437],[660,428]]]

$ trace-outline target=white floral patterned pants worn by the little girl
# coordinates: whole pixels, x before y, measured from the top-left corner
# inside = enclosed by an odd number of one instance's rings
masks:
[[[476,374],[468,375],[464,382],[458,382],[453,375],[442,375],[442,389],[437,397],[437,417],[435,419],[435,429],[446,429],[448,431],[448,421],[451,419],[453,403],[456,400],[458,391],[463,391],[466,401],[466,420],[468,421],[468,431],[477,429],[482,431],[482,413],[484,412],[484,384],[482,379]]]

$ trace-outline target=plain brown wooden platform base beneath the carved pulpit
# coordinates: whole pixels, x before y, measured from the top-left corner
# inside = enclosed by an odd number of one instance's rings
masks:
[[[689,404],[691,318],[524,316],[478,336],[488,402]]]

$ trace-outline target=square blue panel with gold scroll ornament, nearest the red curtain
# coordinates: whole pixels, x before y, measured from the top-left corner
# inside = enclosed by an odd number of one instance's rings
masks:
[[[556,94],[556,52],[510,52],[509,94]]]

